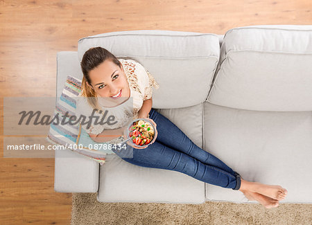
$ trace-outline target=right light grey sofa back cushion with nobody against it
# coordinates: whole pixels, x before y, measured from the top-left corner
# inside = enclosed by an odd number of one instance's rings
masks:
[[[258,111],[312,110],[312,26],[228,30],[207,99]]]

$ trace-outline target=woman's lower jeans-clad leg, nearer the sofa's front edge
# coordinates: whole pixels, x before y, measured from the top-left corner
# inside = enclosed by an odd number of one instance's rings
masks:
[[[213,165],[207,165],[171,147],[159,143],[157,140],[144,149],[136,149],[126,145],[126,150],[114,150],[123,160],[135,165],[175,170],[195,179],[221,186],[223,188],[239,188],[236,177]]]

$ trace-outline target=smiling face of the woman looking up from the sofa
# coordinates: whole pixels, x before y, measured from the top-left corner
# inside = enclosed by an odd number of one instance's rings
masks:
[[[130,97],[130,88],[123,67],[119,68],[111,60],[105,60],[89,71],[89,78],[92,88],[98,96],[105,97],[101,98],[105,102],[114,102],[113,105],[119,105]]]

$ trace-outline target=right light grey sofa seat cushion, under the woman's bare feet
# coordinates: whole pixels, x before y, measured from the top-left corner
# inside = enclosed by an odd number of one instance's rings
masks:
[[[205,150],[247,181],[288,190],[281,203],[312,203],[312,111],[232,109],[205,102]],[[207,184],[207,200],[248,202],[242,192]]]

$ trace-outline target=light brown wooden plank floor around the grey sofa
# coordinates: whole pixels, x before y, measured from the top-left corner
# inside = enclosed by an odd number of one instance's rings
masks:
[[[239,26],[312,24],[311,0],[0,0],[3,98],[55,96],[56,53],[81,37],[120,30],[224,34]],[[0,224],[70,224],[71,193],[53,190],[54,159],[0,157]]]

